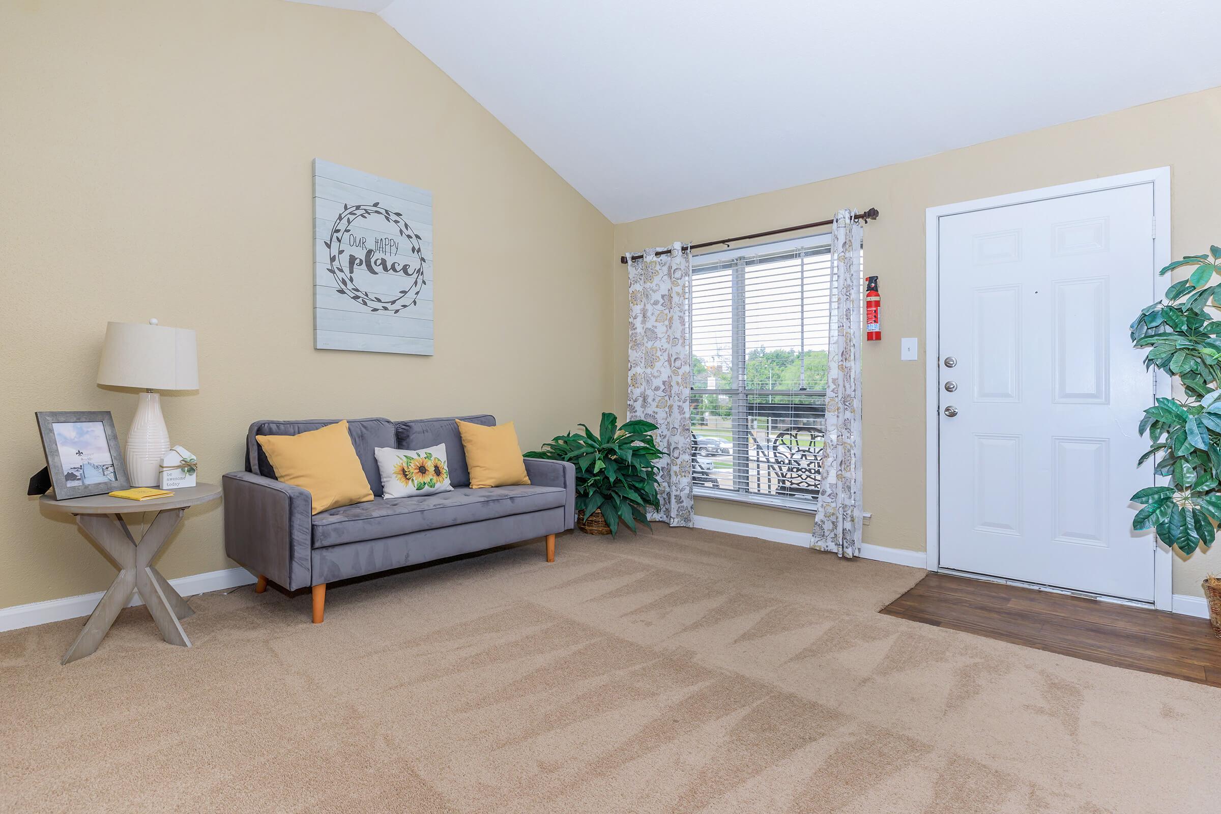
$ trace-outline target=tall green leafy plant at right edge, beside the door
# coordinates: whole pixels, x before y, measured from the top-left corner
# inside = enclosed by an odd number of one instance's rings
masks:
[[[1221,521],[1221,321],[1208,306],[1221,305],[1214,275],[1221,271],[1221,248],[1176,260],[1160,273],[1192,268],[1172,283],[1161,300],[1140,311],[1132,323],[1132,343],[1148,348],[1145,370],[1158,367],[1178,378],[1186,398],[1159,398],[1145,410],[1140,432],[1149,433],[1149,452],[1138,466],[1158,456],[1156,474],[1166,486],[1150,486],[1132,495],[1144,504],[1132,527],[1155,528],[1167,546],[1190,554],[1216,538]]]

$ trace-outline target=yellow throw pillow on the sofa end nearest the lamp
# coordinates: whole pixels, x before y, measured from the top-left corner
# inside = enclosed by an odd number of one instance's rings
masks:
[[[276,470],[277,481],[299,486],[313,495],[314,514],[374,499],[347,421],[295,436],[254,439]]]

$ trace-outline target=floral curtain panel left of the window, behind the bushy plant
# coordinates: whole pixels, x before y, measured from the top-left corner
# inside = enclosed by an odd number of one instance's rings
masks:
[[[628,420],[657,425],[659,510],[650,520],[692,526],[691,343],[687,289],[691,249],[681,243],[628,255]]]

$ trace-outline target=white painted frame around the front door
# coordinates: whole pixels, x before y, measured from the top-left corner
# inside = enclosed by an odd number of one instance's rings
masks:
[[[993,198],[980,198],[944,206],[930,206],[924,210],[924,281],[926,281],[926,308],[924,308],[924,430],[926,430],[926,565],[929,571],[943,571],[940,566],[940,220],[950,215],[962,215],[983,209],[996,209],[1000,206],[1012,206],[1015,204],[1029,204],[1050,198],[1063,198],[1066,195],[1078,195],[1083,193],[1116,189],[1120,187],[1132,187],[1137,184],[1153,183],[1153,207],[1154,207],[1154,245],[1153,268],[1149,273],[1154,281],[1158,279],[1158,271],[1171,261],[1170,254],[1170,167],[1158,167],[1155,170],[1143,170],[1140,172],[1128,172],[1106,178],[1090,178],[1076,183],[1057,184],[1042,189],[1011,193],[1007,195],[995,195]],[[1158,393],[1170,393],[1170,377],[1161,370],[1155,369],[1150,386]],[[1150,404],[1153,403],[1150,394]],[[1156,537],[1154,537],[1156,541]],[[1171,609],[1171,566],[1173,558],[1170,548],[1159,542],[1154,543],[1154,607],[1159,610]],[[1000,577],[998,577],[1000,578]],[[1012,582],[1012,580],[1004,580]],[[1033,586],[1044,587],[1044,586]],[[1054,589],[1054,588],[1048,588]],[[1081,593],[1081,592],[1072,592]],[[1107,598],[1109,597],[1104,597]],[[1143,604],[1143,603],[1133,603]]]

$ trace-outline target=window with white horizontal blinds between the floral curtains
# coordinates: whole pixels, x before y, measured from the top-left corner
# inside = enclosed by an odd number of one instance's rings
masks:
[[[813,509],[832,292],[830,236],[694,259],[696,494]]]

